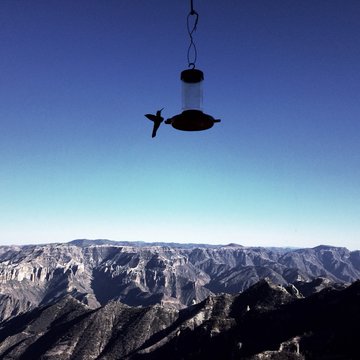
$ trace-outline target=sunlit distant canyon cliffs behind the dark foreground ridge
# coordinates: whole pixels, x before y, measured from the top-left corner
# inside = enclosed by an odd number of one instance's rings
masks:
[[[316,285],[315,278],[327,282]],[[181,309],[268,278],[306,295],[360,278],[360,251],[76,240],[0,247],[0,321],[70,294],[91,309],[109,301]],[[301,284],[304,283],[304,286]]]

